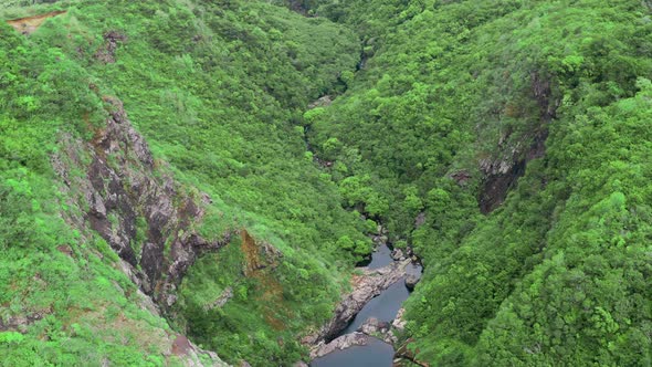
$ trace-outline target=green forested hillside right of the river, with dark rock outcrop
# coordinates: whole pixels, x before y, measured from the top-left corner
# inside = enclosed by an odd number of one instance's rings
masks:
[[[356,24],[374,55],[311,119],[311,143],[345,203],[424,260],[408,304],[417,358],[648,365],[649,6],[314,11]]]

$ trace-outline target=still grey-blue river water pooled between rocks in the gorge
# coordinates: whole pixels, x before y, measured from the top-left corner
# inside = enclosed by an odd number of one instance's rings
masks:
[[[372,255],[369,269],[378,269],[392,262],[391,250],[382,245]],[[408,274],[420,276],[421,266],[410,264],[407,269]],[[396,282],[377,297],[372,298],[358,313],[349,326],[339,335],[354,333],[369,317],[376,317],[381,322],[393,321],[403,301],[408,298],[410,292],[406,287],[404,280]],[[339,336],[338,335],[338,336]],[[312,367],[391,367],[393,361],[393,347],[377,338],[369,338],[370,342],[365,346],[353,346],[344,350],[336,350],[324,357],[311,361]]]

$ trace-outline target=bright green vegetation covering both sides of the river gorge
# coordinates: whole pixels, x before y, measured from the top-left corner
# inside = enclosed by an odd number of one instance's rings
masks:
[[[181,364],[177,333],[228,363],[292,365],[379,224],[425,268],[401,336],[417,360],[652,364],[651,10],[0,4],[3,20],[56,11],[30,34],[0,25],[0,365]],[[86,147],[118,105],[154,157],[122,185],[172,177],[175,208],[203,202],[164,253],[185,233],[240,233],[198,258],[162,316],[84,224]],[[115,151],[108,167],[137,154]],[[137,224],[136,253],[156,232],[144,210],[107,214],[108,232]]]

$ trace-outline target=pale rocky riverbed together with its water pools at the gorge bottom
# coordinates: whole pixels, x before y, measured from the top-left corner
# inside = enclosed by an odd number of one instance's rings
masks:
[[[391,346],[398,342],[397,332],[404,327],[400,305],[419,281],[421,266],[413,263],[411,256],[390,251],[385,244],[374,256],[372,263],[387,265],[360,269],[360,274],[351,279],[351,292],[343,296],[335,316],[302,340],[311,347],[313,366],[341,363],[391,366]],[[378,259],[380,256],[382,259]]]

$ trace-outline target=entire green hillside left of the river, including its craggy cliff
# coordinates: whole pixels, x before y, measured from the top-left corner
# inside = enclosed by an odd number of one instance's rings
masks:
[[[177,331],[233,363],[298,360],[296,335],[329,317],[346,284],[340,274],[369,251],[362,233],[375,228],[339,206],[296,124],[311,101],[344,87],[339,75],[359,54],[354,33],[262,1],[62,2],[7,17],[56,9],[66,12],[28,38],[2,25],[3,350],[55,364],[138,365],[141,354],[161,363],[154,342],[124,345],[92,332],[128,336],[132,327],[111,324],[116,313],[129,325],[146,317],[115,294],[112,283],[130,283],[113,270],[108,242]],[[129,120],[153,160],[139,154],[135,133],[116,133]],[[52,157],[64,168],[53,171]],[[200,208],[188,209],[186,198]],[[186,218],[187,209],[197,217]],[[179,251],[190,251],[191,263],[192,249],[220,247],[225,233],[232,242],[182,284],[166,271],[183,270]],[[103,255],[90,255],[96,251]],[[85,307],[97,316],[76,321],[74,310]],[[151,333],[172,333],[153,319]],[[56,335],[48,343],[44,327]]]

